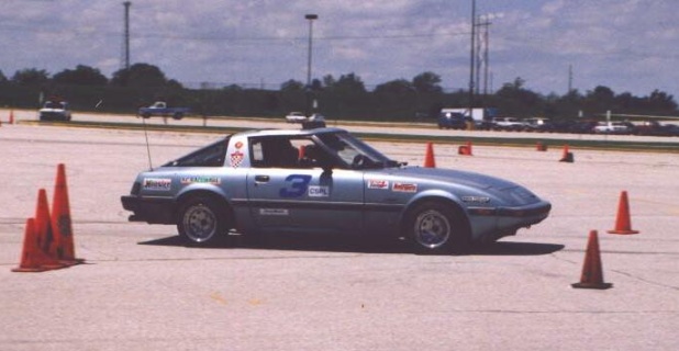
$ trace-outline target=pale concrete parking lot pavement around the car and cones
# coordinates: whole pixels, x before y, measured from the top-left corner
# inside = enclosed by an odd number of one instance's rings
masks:
[[[151,163],[218,136],[149,133]],[[422,165],[425,146],[370,143]],[[143,132],[0,127],[1,350],[677,350],[678,154],[435,145],[436,166],[502,177],[550,217],[463,256],[286,236],[185,247],[129,223],[120,196],[149,167]],[[85,264],[11,272],[41,188],[66,165]],[[612,235],[630,195],[637,235]],[[610,290],[576,290],[590,230]]]

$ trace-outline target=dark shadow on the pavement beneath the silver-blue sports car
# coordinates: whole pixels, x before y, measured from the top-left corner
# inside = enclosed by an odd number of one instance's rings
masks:
[[[191,249],[253,249],[253,250],[286,250],[286,251],[323,251],[323,252],[358,252],[358,253],[409,253],[413,249],[405,240],[359,240],[342,236],[314,235],[266,235],[257,240],[244,236],[230,235],[213,239],[208,245],[191,245],[179,236],[170,236],[138,245],[174,246]],[[467,252],[458,256],[542,256],[563,250],[564,245],[543,242],[497,241],[493,244],[474,246]]]

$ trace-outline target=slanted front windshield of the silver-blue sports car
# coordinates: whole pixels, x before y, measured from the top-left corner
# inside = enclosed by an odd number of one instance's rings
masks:
[[[380,151],[353,137],[348,133],[320,134],[318,137],[327,148],[335,152],[343,162],[353,169],[376,169],[400,166],[399,162],[389,159]]]

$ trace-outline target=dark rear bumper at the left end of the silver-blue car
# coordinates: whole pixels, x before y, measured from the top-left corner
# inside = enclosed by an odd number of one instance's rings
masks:
[[[120,197],[123,208],[133,214],[130,222],[146,222],[148,224],[175,224],[176,202],[171,197],[142,197],[124,195]]]

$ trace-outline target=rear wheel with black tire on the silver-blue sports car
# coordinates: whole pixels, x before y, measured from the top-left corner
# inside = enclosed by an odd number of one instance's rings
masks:
[[[177,212],[177,231],[191,245],[207,245],[229,231],[225,208],[209,197],[191,197]]]

